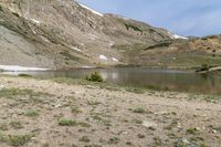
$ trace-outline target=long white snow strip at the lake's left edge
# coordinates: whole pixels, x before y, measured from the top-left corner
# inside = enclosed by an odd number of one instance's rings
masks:
[[[22,71],[48,71],[49,69],[27,67],[27,66],[19,66],[19,65],[0,65],[0,70],[10,71],[10,72],[22,72]]]

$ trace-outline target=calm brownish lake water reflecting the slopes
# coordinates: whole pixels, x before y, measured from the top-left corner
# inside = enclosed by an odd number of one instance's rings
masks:
[[[221,94],[221,76],[201,75],[189,71],[156,70],[145,67],[91,69],[60,72],[20,72],[36,77],[85,77],[98,71],[108,83],[126,86],[173,90],[203,94]],[[8,73],[8,74],[20,74]]]

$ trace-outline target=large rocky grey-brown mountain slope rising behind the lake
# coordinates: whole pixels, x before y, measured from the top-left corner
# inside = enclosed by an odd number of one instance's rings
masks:
[[[198,43],[144,22],[98,13],[73,0],[0,0],[2,65],[161,65],[167,56],[173,60],[179,52],[188,50],[188,55],[189,50],[200,49]]]

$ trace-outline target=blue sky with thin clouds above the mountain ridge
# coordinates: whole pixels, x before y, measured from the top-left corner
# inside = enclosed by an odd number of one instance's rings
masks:
[[[221,0],[78,1],[98,12],[144,21],[179,35],[221,34]]]

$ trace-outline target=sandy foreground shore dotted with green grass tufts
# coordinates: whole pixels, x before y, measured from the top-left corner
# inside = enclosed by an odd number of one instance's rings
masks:
[[[0,76],[0,146],[220,147],[220,99]]]

